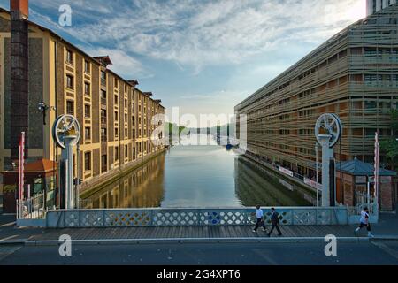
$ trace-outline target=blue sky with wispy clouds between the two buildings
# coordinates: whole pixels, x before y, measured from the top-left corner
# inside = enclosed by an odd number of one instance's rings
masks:
[[[32,21],[112,71],[137,79],[170,111],[233,114],[233,107],[365,16],[365,0],[30,0]],[[72,25],[59,24],[60,7]],[[0,0],[9,9],[9,0]],[[65,10],[64,10],[65,11]],[[217,123],[217,121],[213,121]],[[210,125],[214,126],[214,125]]]

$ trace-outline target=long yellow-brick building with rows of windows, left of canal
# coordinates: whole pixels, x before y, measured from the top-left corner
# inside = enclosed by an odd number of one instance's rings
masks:
[[[15,170],[22,131],[27,163],[47,159],[57,164],[61,150],[51,126],[62,114],[80,122],[80,153],[73,158],[83,191],[162,151],[155,142],[161,134],[152,135],[160,123],[151,122],[165,113],[161,101],[108,65],[110,57],[91,57],[29,21],[27,0],[11,0],[11,11],[0,8],[0,172]],[[50,107],[45,125],[39,103]]]

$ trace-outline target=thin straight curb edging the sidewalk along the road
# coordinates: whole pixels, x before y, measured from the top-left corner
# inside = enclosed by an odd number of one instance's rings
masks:
[[[341,242],[368,242],[369,238],[338,237]],[[137,244],[158,244],[158,243],[281,243],[281,242],[325,242],[325,237],[308,238],[170,238],[170,239],[90,239],[72,240],[75,245],[137,245]],[[57,240],[25,241],[26,246],[54,246],[59,245]]]

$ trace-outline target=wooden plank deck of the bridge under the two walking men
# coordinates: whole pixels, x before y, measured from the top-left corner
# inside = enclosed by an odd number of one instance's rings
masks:
[[[269,229],[270,227],[268,227]],[[333,234],[336,237],[355,236],[353,226],[282,226],[283,237],[325,237]],[[133,228],[80,228],[80,229],[46,229],[45,233],[36,234],[29,240],[57,240],[62,234],[68,234],[73,240],[111,240],[111,239],[213,239],[213,238],[256,238],[266,233],[260,228],[252,232],[250,226],[172,226],[172,227],[133,227]],[[365,231],[359,233],[365,236]],[[277,236],[274,231],[272,236]]]

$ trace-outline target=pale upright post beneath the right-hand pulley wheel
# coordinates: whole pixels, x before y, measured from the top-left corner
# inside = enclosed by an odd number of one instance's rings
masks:
[[[330,148],[330,134],[319,134],[322,146],[322,206],[330,206],[330,159],[333,157],[333,148]]]

